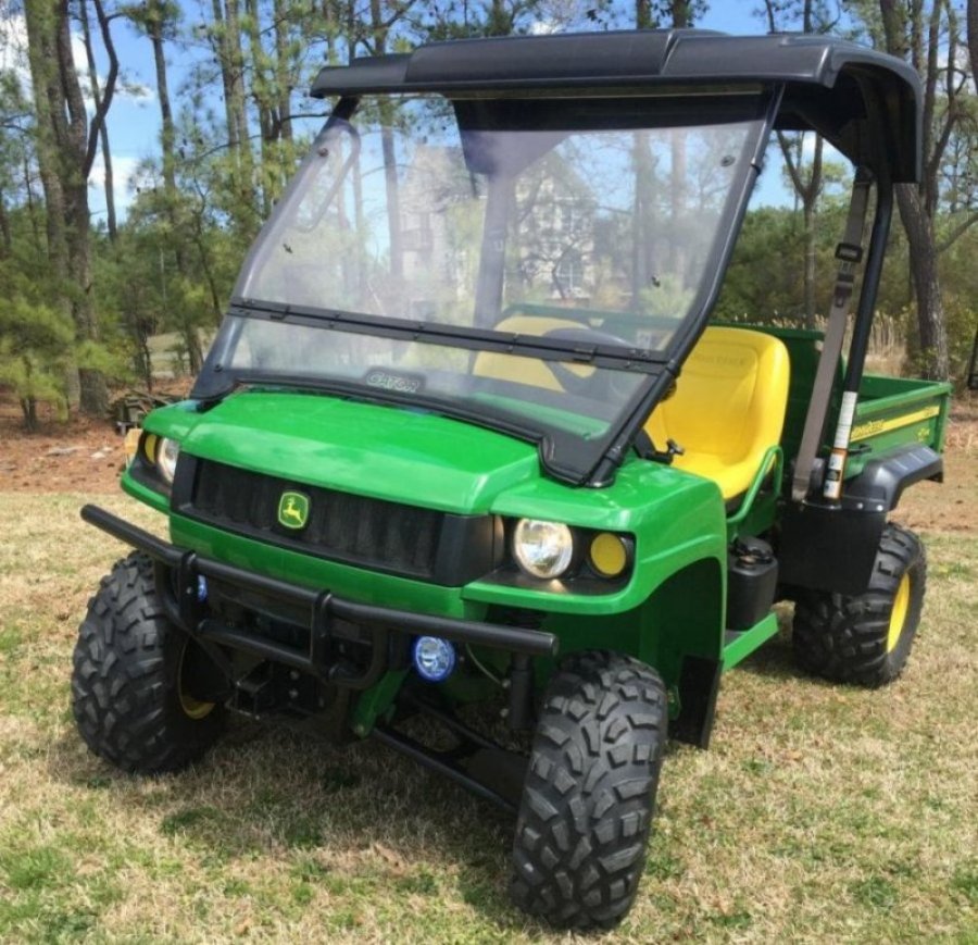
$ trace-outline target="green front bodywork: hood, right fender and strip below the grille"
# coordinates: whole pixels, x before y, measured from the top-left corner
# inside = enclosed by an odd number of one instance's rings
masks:
[[[178,419],[179,431],[171,418]],[[496,604],[559,613],[620,613],[639,607],[688,564],[726,557],[716,485],[638,458],[622,468],[609,488],[587,489],[542,477],[529,444],[434,414],[329,397],[252,393],[199,414],[192,428],[185,418],[184,410],[164,408],[152,414],[147,430],[181,433],[188,452],[290,482],[457,514],[550,519],[626,532],[636,539],[631,580],[609,594],[557,594],[546,582],[536,590],[491,580],[460,592],[286,551],[172,515],[172,537],[179,545],[359,600],[444,616],[461,616],[463,601],[469,610]],[[126,488],[140,497],[143,487],[125,480]],[[722,629],[716,626],[717,641]]]

